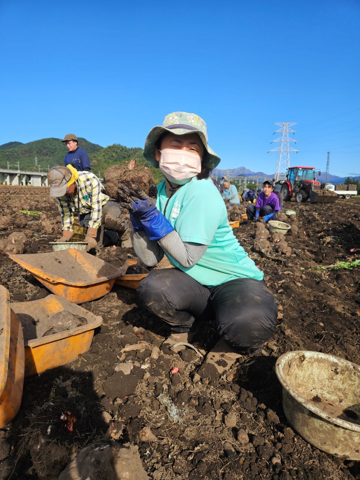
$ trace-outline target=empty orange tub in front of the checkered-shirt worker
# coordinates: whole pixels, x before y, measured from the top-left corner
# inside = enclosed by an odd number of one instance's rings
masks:
[[[106,295],[122,271],[80,250],[9,255],[55,295],[84,303]]]

